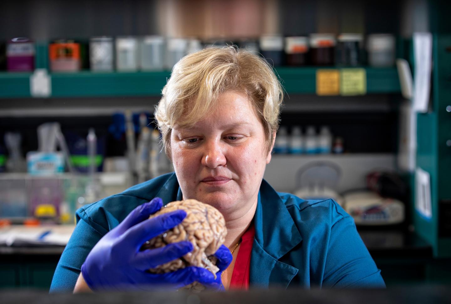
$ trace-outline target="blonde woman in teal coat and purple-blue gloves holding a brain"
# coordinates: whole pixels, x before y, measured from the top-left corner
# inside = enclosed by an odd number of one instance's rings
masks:
[[[175,173],[79,209],[51,290],[178,288],[193,281],[214,289],[384,287],[354,221],[338,204],[277,193],[262,180],[282,99],[271,67],[251,53],[211,48],[180,60],[155,111]],[[181,242],[139,251],[186,214],[144,220],[162,202],[188,198],[225,217],[228,234],[216,253],[221,272],[216,280],[196,267],[166,275],[146,272],[192,249]]]

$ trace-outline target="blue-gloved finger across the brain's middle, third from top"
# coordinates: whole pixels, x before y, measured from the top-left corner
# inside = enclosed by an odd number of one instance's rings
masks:
[[[146,270],[180,258],[191,250],[193,250],[193,244],[188,241],[168,244],[165,247],[136,253],[132,263],[136,269]]]

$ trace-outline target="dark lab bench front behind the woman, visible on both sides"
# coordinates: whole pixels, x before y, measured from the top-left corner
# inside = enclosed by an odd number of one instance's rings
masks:
[[[359,231],[387,286],[451,283],[451,260],[434,259],[418,235],[398,230]],[[48,290],[64,246],[0,246],[0,289]]]

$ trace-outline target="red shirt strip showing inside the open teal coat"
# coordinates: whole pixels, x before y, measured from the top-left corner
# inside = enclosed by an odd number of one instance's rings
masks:
[[[241,236],[241,246],[235,260],[235,267],[233,267],[232,278],[230,280],[229,289],[243,289],[249,290],[249,268],[251,262],[251,251],[253,239],[255,235],[255,228],[253,224]]]

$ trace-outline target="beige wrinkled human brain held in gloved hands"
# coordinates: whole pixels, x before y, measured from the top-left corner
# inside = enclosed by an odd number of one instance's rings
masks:
[[[174,228],[147,241],[143,245],[143,249],[160,248],[170,243],[187,240],[193,244],[193,250],[182,258],[159,265],[156,268],[149,269],[149,271],[164,273],[188,266],[196,266],[208,269],[216,278],[216,272],[219,268],[216,267],[216,258],[213,254],[226,238],[227,229],[224,216],[215,207],[195,199],[187,199],[168,203],[160,211],[151,215],[150,218],[180,209],[187,213],[184,220]]]

